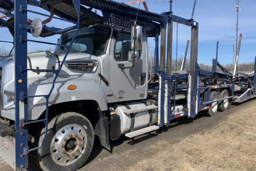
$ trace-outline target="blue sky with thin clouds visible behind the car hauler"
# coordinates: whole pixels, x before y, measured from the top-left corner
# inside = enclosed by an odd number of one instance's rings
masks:
[[[131,0],[121,0],[119,2],[127,3]],[[162,13],[169,11],[169,2],[152,3],[156,1],[166,0],[145,0],[149,11]],[[203,64],[212,64],[212,58],[216,55],[216,42],[219,41],[219,57],[221,64],[229,64],[233,58],[232,42],[235,40],[235,12],[236,0],[197,0],[194,19],[199,22],[199,44],[198,44],[198,62]],[[134,5],[138,7],[138,4]],[[193,0],[173,0],[172,11],[176,16],[190,18],[192,13]],[[254,62],[256,56],[256,0],[240,1],[241,11],[239,12],[239,31],[243,34],[240,49],[239,63]],[[144,9],[143,5],[140,8]],[[33,10],[33,7],[30,7]],[[43,10],[41,10],[43,12]],[[48,12],[44,12],[47,13]],[[28,17],[34,18],[45,17],[29,14]],[[67,23],[63,21],[53,20],[48,26],[67,27]],[[12,41],[9,31],[5,28],[0,29],[1,40]],[[178,58],[183,57],[185,52],[186,41],[190,40],[191,28],[184,25],[178,25]],[[59,35],[49,38],[37,38],[36,40],[57,42]],[[28,38],[34,39],[31,35]],[[6,48],[10,48],[8,44],[2,44]],[[154,48],[153,39],[149,39],[149,45]],[[49,45],[29,43],[28,51],[33,49],[49,48]],[[176,24],[174,25],[173,40],[173,57],[176,54]],[[190,51],[188,52],[189,58]]]

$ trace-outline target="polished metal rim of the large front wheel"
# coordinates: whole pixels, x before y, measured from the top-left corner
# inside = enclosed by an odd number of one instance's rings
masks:
[[[87,135],[80,125],[66,125],[58,130],[51,141],[51,158],[59,165],[73,164],[84,153],[86,144]]]

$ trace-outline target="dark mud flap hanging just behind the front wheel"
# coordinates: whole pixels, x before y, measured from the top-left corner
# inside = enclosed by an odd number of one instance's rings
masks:
[[[108,118],[99,111],[100,119],[94,128],[94,134],[100,138],[101,146],[110,150],[109,132],[108,132]]]

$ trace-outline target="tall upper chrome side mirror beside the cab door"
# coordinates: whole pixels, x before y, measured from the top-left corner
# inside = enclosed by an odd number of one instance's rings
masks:
[[[134,47],[134,43],[135,43],[135,47]],[[133,50],[134,48],[138,51],[142,49],[142,26],[140,25],[132,26],[131,50]]]

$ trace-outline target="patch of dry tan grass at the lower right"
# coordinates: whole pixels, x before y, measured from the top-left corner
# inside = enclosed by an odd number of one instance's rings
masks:
[[[255,101],[230,114],[211,130],[171,144],[159,141],[155,155],[138,160],[127,171],[256,171]],[[218,113],[222,114],[222,113]]]

